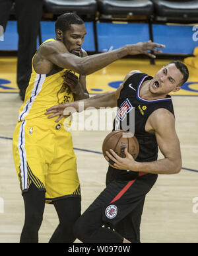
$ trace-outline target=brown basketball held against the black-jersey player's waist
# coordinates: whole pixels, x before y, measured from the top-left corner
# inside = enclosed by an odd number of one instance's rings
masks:
[[[134,159],[137,158],[137,155],[139,154],[139,143],[137,138],[133,136],[131,132],[125,132],[123,130],[113,131],[104,139],[102,153],[105,157],[107,156],[106,151],[113,149],[119,157],[125,157],[125,148],[127,148],[127,151]]]

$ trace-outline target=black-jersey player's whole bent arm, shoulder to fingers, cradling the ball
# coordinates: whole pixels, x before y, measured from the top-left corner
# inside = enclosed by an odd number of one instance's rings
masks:
[[[163,159],[139,163],[125,149],[125,158],[119,157],[113,150],[110,150],[110,153],[106,152],[108,155],[106,160],[112,159],[114,167],[117,169],[155,174],[179,173],[182,168],[182,156],[173,114],[164,108],[160,108],[154,111],[149,118],[150,130],[156,135],[158,146],[164,155]]]

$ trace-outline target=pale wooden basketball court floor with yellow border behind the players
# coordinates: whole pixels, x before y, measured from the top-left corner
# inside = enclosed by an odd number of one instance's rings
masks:
[[[91,95],[113,91],[129,71],[139,69],[154,75],[168,62],[156,60],[156,65],[150,65],[147,59],[119,60],[88,75],[88,91]],[[185,87],[173,94],[182,171],[176,175],[159,175],[147,194],[141,222],[143,243],[198,241],[198,73],[190,67],[189,74]],[[16,58],[0,58],[0,243],[18,243],[24,222],[24,205],[12,153],[12,137],[21,104],[16,86]],[[110,111],[114,116],[115,109]],[[102,142],[112,129],[112,118],[101,120],[98,110],[84,112],[84,116],[89,118],[86,120],[92,129],[82,130],[79,125],[82,118],[77,118],[77,129],[71,130],[81,180],[82,212],[105,187],[108,163],[102,155]],[[101,122],[104,126],[99,125]],[[46,204],[40,242],[49,241],[57,224],[55,209]]]

